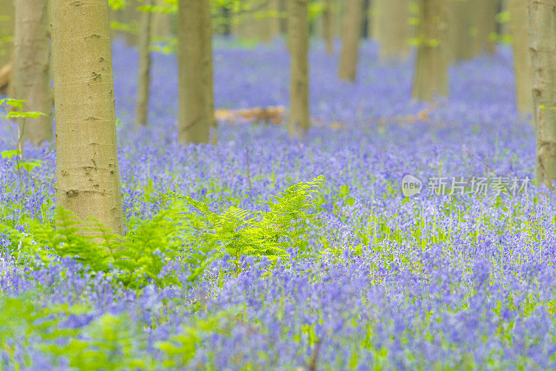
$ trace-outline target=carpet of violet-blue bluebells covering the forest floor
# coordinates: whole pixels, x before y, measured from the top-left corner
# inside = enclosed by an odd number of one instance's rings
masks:
[[[450,99],[433,105],[410,99],[411,59],[381,63],[377,44],[363,42],[350,84],[336,78],[338,50],[313,44],[303,140],[284,124],[221,122],[218,146],[181,147],[175,56],[154,56],[149,126],[134,129],[138,53],[116,41],[126,218],[152,217],[152,195],[167,190],[214,210],[257,209],[324,175],[319,253],[245,256],[239,270],[224,256],[193,286],[132,290],[77,274],[70,258],[26,270],[5,248],[0,368],[556,368],[556,197],[527,182],[534,132],[514,105],[511,50],[452,65]],[[216,40],[214,61],[217,108],[288,105],[284,42]],[[12,149],[3,126],[0,149]],[[0,159],[0,216],[51,222],[55,151],[25,156],[44,161],[32,178]],[[423,183],[413,197],[401,191],[407,175]]]

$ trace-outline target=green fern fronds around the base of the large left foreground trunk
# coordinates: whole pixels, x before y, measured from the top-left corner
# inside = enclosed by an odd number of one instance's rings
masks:
[[[70,211],[59,209],[54,224],[28,220],[28,231],[21,233],[6,222],[0,231],[6,231],[17,246],[18,261],[28,264],[56,264],[59,258],[74,258],[95,274],[113,275],[124,286],[141,288],[150,281],[158,286],[181,286],[175,274],[162,273],[168,261],[183,261],[190,265],[187,282],[197,279],[211,258],[210,252],[199,246],[189,252],[187,242],[190,227],[184,224],[181,208],[169,205],[152,220],[131,221],[125,237],[113,235],[95,220],[84,225]],[[34,261],[38,256],[40,262]]]

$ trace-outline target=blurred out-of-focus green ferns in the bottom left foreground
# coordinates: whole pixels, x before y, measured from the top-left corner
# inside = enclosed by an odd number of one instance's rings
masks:
[[[71,368],[79,370],[160,368],[153,355],[147,352],[147,333],[142,329],[145,323],[128,314],[105,313],[84,327],[68,329],[63,325],[65,318],[90,315],[90,309],[37,303],[38,297],[32,292],[19,297],[0,295],[0,351],[8,356],[7,360],[0,358],[0,369],[3,366],[16,370],[32,368],[32,351],[41,352],[53,361],[65,359]],[[229,333],[230,323],[240,310],[238,306],[204,318],[190,318],[168,340],[155,343],[155,348],[166,360],[163,366],[186,368],[208,334]],[[38,349],[31,349],[29,340],[37,344],[37,339],[40,339]]]

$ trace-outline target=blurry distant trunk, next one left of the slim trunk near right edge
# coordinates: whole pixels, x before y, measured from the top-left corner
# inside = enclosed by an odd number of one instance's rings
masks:
[[[496,41],[491,38],[496,33],[497,0],[468,0],[471,1],[471,49],[473,56],[482,53],[493,53]]]

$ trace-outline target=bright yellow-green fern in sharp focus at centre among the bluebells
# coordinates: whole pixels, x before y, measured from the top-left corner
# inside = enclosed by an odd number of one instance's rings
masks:
[[[197,233],[195,245],[208,245],[211,249],[224,248],[235,258],[242,255],[266,256],[270,260],[287,255],[293,247],[296,253],[306,253],[309,234],[318,229],[318,214],[311,213],[313,195],[318,195],[324,176],[313,181],[297,183],[278,196],[265,202],[268,212],[247,211],[231,206],[218,214],[207,204],[191,197],[169,192],[170,199],[182,199],[190,207],[185,214]]]

